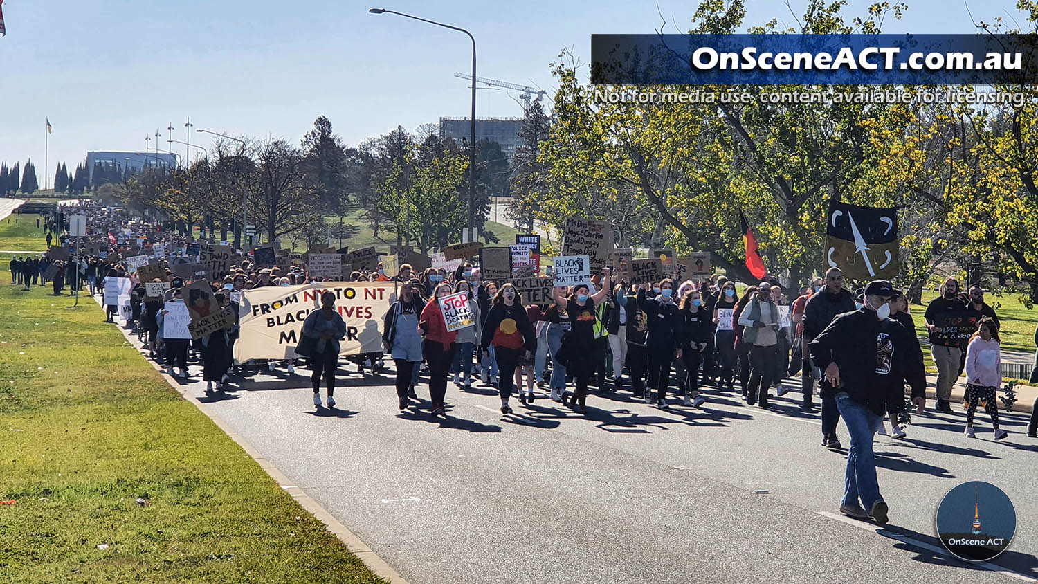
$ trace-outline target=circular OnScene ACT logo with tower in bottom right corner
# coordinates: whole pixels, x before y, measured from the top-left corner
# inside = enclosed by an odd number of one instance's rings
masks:
[[[987,561],[1009,547],[1016,532],[1016,509],[1006,493],[990,482],[972,480],[940,500],[937,537],[953,556]]]

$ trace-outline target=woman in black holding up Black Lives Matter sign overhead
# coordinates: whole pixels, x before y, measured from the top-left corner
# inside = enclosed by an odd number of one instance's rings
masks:
[[[555,304],[565,306],[566,313],[570,317],[571,336],[569,339],[571,340],[569,342],[571,346],[561,347],[559,352],[577,357],[570,359],[567,364],[571,368],[570,372],[573,373],[573,379],[576,381],[576,389],[568,404],[565,394],[563,395],[563,404],[568,405],[573,411],[579,414],[588,413],[585,406],[588,383],[591,381],[591,377],[595,374],[595,365],[598,363],[598,360],[593,358],[595,354],[595,323],[598,322],[595,307],[605,300],[605,297],[609,294],[609,289],[612,287],[612,276],[608,268],[604,270],[604,275],[602,288],[595,293],[594,296],[589,294],[590,288],[586,283],[576,284],[570,288],[572,291],[569,298],[566,298],[561,293],[561,290],[566,288],[559,286],[553,288]]]

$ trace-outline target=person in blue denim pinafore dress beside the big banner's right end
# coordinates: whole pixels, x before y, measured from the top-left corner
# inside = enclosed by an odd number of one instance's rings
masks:
[[[406,410],[411,387],[416,374],[415,365],[421,362],[421,335],[418,315],[426,308],[425,301],[414,294],[414,284],[403,282],[400,298],[389,307],[382,325],[382,347],[397,365],[397,398],[400,409]]]

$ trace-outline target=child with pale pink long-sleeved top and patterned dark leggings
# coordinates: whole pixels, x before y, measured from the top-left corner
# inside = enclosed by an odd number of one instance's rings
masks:
[[[977,324],[977,332],[966,347],[966,393],[969,398],[969,406],[966,408],[967,438],[974,438],[974,415],[980,401],[985,402],[984,410],[991,416],[994,439],[1002,440],[1009,435],[999,428],[999,406],[994,400],[994,392],[1002,385],[1001,340],[999,327],[993,319],[985,316]]]

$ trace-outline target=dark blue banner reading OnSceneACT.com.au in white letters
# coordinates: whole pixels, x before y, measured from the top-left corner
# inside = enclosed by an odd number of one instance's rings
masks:
[[[596,85],[994,85],[1038,82],[1016,34],[593,34]]]

